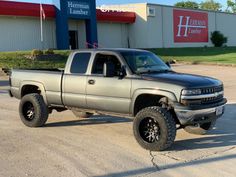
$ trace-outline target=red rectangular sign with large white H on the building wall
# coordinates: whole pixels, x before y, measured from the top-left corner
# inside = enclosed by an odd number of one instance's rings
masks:
[[[173,10],[174,42],[208,42],[208,13]]]

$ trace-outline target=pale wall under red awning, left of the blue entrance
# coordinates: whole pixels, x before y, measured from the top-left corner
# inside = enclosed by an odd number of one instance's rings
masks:
[[[43,47],[56,48],[54,20],[43,23]],[[38,18],[0,16],[0,51],[41,49]]]

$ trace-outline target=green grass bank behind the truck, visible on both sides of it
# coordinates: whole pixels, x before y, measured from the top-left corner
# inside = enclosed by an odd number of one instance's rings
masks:
[[[192,64],[236,64],[236,47],[225,48],[165,48],[149,49],[162,59]],[[62,59],[33,61],[26,56],[31,51],[0,52],[0,68],[64,68],[70,51],[55,51]]]

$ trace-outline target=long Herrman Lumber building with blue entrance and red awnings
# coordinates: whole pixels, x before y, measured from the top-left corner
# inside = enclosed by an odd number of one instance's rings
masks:
[[[60,0],[42,9],[43,35],[40,4],[0,0],[0,51],[203,47],[212,46],[215,30],[236,46],[235,14],[148,3],[96,9],[95,0]]]

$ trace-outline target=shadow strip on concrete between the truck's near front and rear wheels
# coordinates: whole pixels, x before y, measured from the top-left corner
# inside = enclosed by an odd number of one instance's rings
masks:
[[[92,116],[91,118],[47,123],[45,127],[67,127],[67,126],[85,126],[85,125],[100,125],[100,124],[118,124],[132,122],[132,119],[110,116]]]

